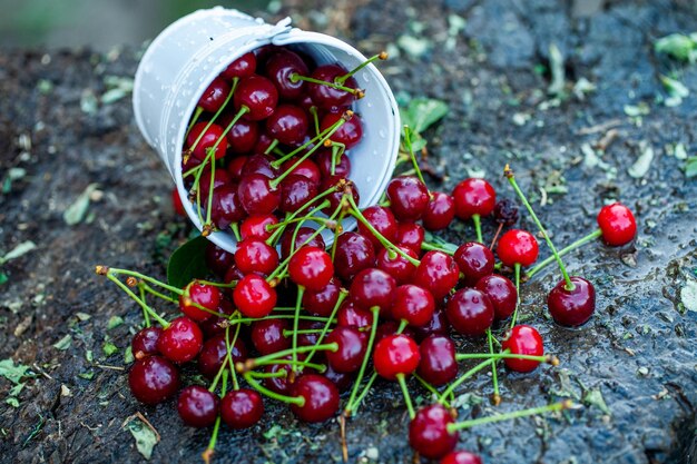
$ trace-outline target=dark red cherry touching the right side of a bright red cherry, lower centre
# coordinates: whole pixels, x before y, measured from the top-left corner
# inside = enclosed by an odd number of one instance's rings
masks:
[[[458,376],[455,344],[448,336],[431,335],[419,345],[421,362],[416,373],[433,386],[452,382]]]

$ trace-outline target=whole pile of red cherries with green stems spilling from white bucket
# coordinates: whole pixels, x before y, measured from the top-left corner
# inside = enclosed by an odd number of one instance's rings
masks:
[[[346,152],[361,139],[360,119],[348,109],[362,95],[356,70],[314,67],[279,48],[232,63],[199,101],[183,170],[199,214],[233,231],[236,250],[209,244],[209,278],[185,288],[97,267],[143,308],[145,328],[131,343],[132,395],[155,405],[178,394],[185,424],[214,427],[206,461],[220,424],[257,424],[264,397],[287,404],[302,421],[323,422],[340,413],[345,392],[344,438],[345,422],[379,377],[403,393],[413,450],[445,464],[481,463],[454,451],[462,430],[570,407],[565,402],[458,422],[451,402],[469,378],[489,369],[498,405],[501,362],[519,373],[558,363],[534,327],[518,324],[521,283],[557,263],[562,278],[549,293],[549,314],[560,326],[581,326],[595,312],[593,286],[569,276],[561,257],[600,237],[610,246],[630,243],[637,230],[631,211],[605,206],[597,230],[558,250],[508,167],[504,176],[536,234],[513,228],[518,207],[497,200],[485,180],[432,191],[418,167],[393,178],[379,205],[359,209]],[[347,217],[356,219],[356,230],[343,230]],[[472,221],[475,238],[458,246],[432,234],[454,220]],[[482,220],[498,224],[489,246]],[[331,244],[322,235],[327,231]],[[551,251],[540,263],[537,237]],[[160,315],[153,298],[178,314]],[[485,340],[482,352],[458,353],[462,338]],[[206,381],[194,381],[195,371]],[[414,408],[410,388],[418,385],[433,404]]]

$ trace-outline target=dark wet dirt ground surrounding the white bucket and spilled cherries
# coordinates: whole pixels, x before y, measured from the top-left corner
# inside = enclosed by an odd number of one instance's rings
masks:
[[[426,134],[442,177],[442,186],[431,177],[432,186],[450,189],[484,172],[512,198],[500,176],[510,162],[558,244],[590,231],[603,201],[621,199],[638,216],[636,246],[597,243],[568,259],[598,293],[596,316],[581,329],[544,317],[554,273],[523,290],[526,317],[561,366],[504,375],[495,411],[567,396],[581,407],[562,419],[478,427],[460,446],[487,463],[697,462],[697,313],[684,290],[697,278],[697,181],[683,159],[697,155],[697,66],[654,51],[659,37],[697,31],[697,6],[316,3],[263,14],[293,13],[300,27],[338,34],[366,55],[386,47],[393,59],[382,69],[400,99],[450,105]],[[0,50],[0,256],[27,240],[37,246],[0,267],[0,359],[30,367],[16,405],[6,402],[13,385],[0,378],[2,463],[141,462],[121,428],[136,412],[161,435],[153,462],[199,462],[208,441],[208,431],[181,426],[171,403],[145,407],[130,397],[124,348],[140,314],[94,274],[107,264],[161,277],[166,257],[190,233],[171,211],[164,166],[135,126],[128,79],[114,78],[132,77],[138,53]],[[667,101],[661,76],[689,96]],[[76,207],[91,184],[89,206]],[[77,224],[66,223],[67,209]],[[522,225],[532,226],[524,215]],[[469,226],[464,233],[471,236]],[[106,343],[118,349],[107,356]],[[409,463],[399,391],[374,389],[348,424],[351,462]],[[493,414],[490,392],[485,376],[468,384],[460,414]],[[216,463],[341,462],[335,422],[305,425],[276,407],[249,431],[223,431],[217,450]]]

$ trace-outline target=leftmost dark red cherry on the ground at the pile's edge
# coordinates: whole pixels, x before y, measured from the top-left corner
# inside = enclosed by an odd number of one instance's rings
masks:
[[[128,372],[128,386],[140,403],[158,404],[177,393],[179,373],[161,356],[137,359]]]

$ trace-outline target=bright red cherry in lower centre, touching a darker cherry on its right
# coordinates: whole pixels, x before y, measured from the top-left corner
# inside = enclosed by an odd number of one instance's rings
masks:
[[[395,381],[400,374],[413,374],[420,361],[419,345],[404,334],[384,337],[377,342],[373,353],[375,372],[387,381]]]

